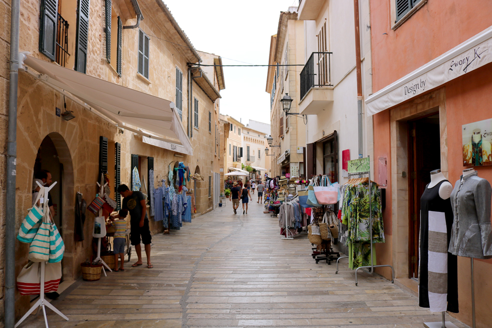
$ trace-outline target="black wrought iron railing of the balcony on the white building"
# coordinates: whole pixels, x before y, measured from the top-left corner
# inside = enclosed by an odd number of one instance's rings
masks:
[[[312,53],[301,71],[301,99],[311,88],[333,87],[329,52]]]

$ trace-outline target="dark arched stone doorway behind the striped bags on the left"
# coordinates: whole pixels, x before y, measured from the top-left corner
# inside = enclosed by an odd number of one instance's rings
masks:
[[[65,243],[65,255],[62,260],[62,279],[72,280],[75,278],[73,276],[73,263],[71,263],[74,241],[73,233],[68,232],[73,231],[74,228],[73,164],[68,145],[62,135],[57,132],[48,134],[38,148],[33,168],[34,177],[41,170],[49,171],[51,180],[57,182],[50,191],[52,197],[50,204],[53,205],[54,222]],[[70,260],[67,261],[67,258],[70,258]]]

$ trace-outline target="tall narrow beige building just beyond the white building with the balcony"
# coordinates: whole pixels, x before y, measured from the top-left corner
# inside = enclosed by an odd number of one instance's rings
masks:
[[[270,43],[266,91],[270,93],[273,147],[272,176],[305,177],[306,120],[286,115],[280,100],[288,93],[293,99],[290,113],[299,113],[300,77],[297,65],[304,64],[304,22],[297,18],[297,7],[281,12],[277,34]]]

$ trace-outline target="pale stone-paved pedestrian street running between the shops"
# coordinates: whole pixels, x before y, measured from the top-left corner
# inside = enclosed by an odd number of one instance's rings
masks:
[[[152,269],[131,268],[133,256],[124,272],[75,282],[53,302],[70,320],[49,311],[50,327],[422,328],[440,320],[378,276],[362,273],[356,287],[346,261],[338,274],[334,264],[316,265],[307,236],[281,239],[277,218],[253,199],[247,215],[227,202],[153,236]],[[42,316],[21,327],[44,327]]]

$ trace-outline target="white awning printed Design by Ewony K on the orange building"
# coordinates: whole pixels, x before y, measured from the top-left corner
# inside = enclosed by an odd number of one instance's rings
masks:
[[[400,80],[370,95],[371,116],[492,62],[492,27],[431,60]]]

